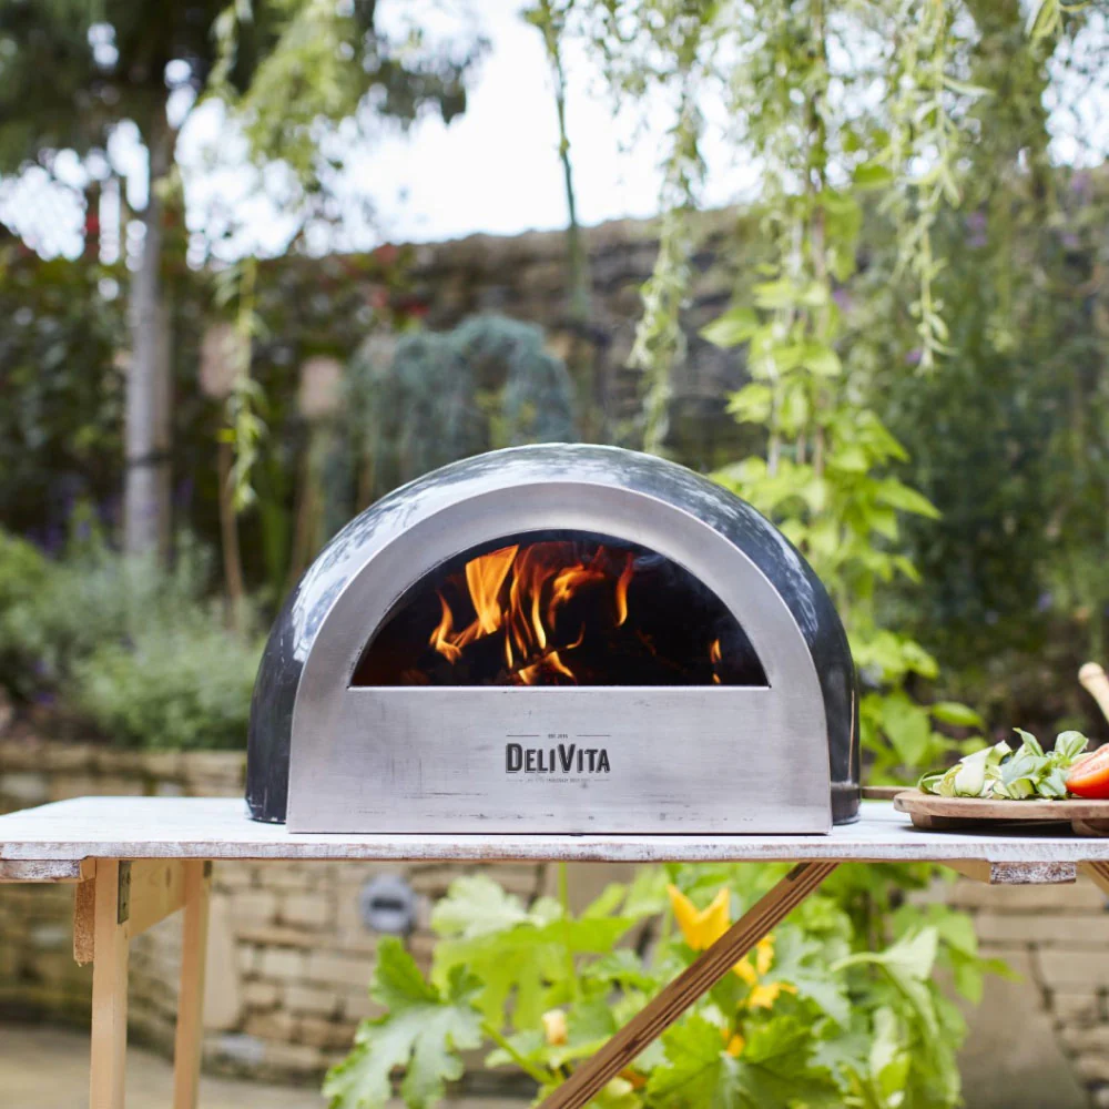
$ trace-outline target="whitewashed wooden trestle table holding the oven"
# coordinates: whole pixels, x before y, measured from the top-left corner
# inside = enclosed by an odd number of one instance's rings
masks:
[[[255,824],[241,802],[82,797],[0,816],[0,882],[77,887],[73,947],[93,964],[91,1109],[122,1109],[128,947],[179,909],[184,944],[174,1109],[196,1109],[212,864],[221,859],[507,862],[790,862],[794,867],[665,986],[541,1109],[580,1109],[841,863],[934,862],[996,884],[1076,881],[1109,893],[1109,838],[922,832],[887,802],[827,836],[293,835]]]

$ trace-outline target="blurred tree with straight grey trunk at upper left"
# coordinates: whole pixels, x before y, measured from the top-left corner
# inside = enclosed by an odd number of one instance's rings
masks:
[[[465,108],[475,49],[428,55],[380,33],[375,0],[0,0],[0,172],[48,171],[59,153],[103,153],[124,123],[147,154],[141,248],[131,282],[124,546],[165,550],[170,517],[170,349],[163,254],[176,207],[176,140],[200,93],[241,109],[261,160],[304,182],[294,204],[327,192],[326,140],[348,120],[445,119]],[[103,161],[103,160],[101,160]]]

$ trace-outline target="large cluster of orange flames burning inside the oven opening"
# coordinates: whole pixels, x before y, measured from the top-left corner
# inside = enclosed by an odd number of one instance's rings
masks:
[[[586,638],[582,624],[571,642],[558,643],[559,615],[583,588],[603,587],[613,580],[612,554],[599,547],[588,562],[568,563],[572,545],[519,543],[502,547],[466,563],[466,591],[475,618],[460,631],[455,612],[439,592],[441,617],[428,640],[451,664],[467,644],[489,635],[503,640],[505,664],[516,685],[577,681],[567,658]],[[612,587],[612,619],[619,628],[628,619],[628,587],[634,570],[631,551]],[[564,625],[566,621],[561,621]]]

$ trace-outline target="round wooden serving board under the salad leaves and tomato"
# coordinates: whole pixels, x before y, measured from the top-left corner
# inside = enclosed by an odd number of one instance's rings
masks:
[[[1069,824],[1076,835],[1109,836],[1109,801],[988,801],[905,790],[894,797],[894,808],[929,832],[999,824],[1026,830],[1035,824]]]

